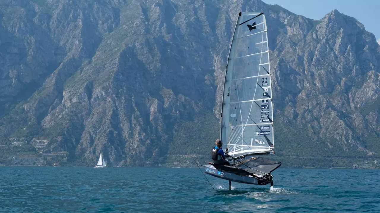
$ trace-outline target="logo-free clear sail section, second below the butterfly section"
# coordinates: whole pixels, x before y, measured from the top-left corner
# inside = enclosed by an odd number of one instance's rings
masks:
[[[263,65],[260,65],[263,64]],[[232,65],[231,65],[232,66]],[[265,69],[263,69],[263,66]],[[268,68],[268,69],[267,69]],[[266,71],[265,71],[266,70]],[[269,53],[261,53],[234,59],[232,79],[241,79],[266,75],[269,70]]]

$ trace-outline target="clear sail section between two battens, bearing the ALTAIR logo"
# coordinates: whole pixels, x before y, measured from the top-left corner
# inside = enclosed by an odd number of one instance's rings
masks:
[[[272,123],[272,100],[230,103],[229,125],[260,125]],[[252,127],[253,128],[253,127]]]

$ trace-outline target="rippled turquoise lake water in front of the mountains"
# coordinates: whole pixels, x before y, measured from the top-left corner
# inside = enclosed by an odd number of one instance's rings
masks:
[[[380,212],[380,171],[277,169],[269,185],[198,168],[0,167],[0,212]]]

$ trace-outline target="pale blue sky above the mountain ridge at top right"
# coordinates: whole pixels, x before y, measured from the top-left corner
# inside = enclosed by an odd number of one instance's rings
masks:
[[[352,16],[375,34],[380,44],[380,0],[263,0],[269,5],[280,5],[297,15],[319,20],[330,11]]]

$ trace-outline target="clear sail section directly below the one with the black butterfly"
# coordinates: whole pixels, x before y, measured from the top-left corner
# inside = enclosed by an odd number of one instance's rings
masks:
[[[266,32],[237,39],[234,58],[267,52],[268,42],[263,41],[266,41]]]

